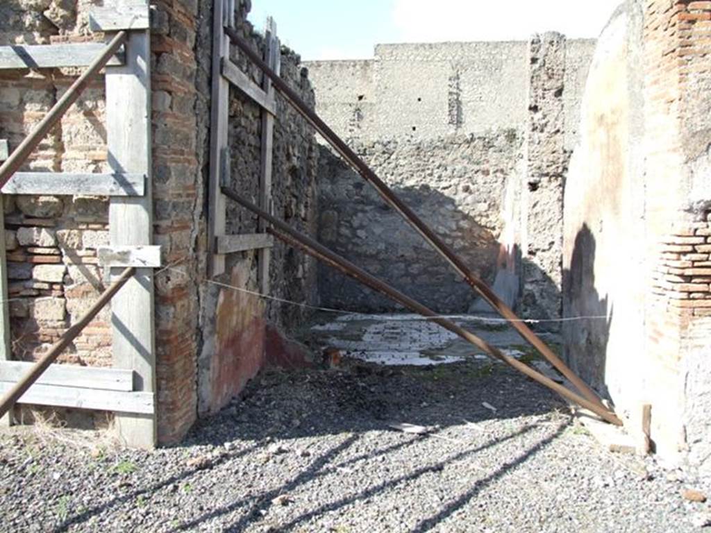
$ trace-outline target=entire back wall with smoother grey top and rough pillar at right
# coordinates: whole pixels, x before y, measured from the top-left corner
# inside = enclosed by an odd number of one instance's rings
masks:
[[[530,43],[378,45],[373,60],[307,66],[317,112],[380,178],[525,316],[557,318],[563,176],[593,48],[552,33]],[[439,312],[483,310],[326,148],[319,203],[324,244]],[[319,279],[327,306],[396,308],[336,272]]]

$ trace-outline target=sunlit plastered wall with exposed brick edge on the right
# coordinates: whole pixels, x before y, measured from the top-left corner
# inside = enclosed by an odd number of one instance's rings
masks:
[[[567,357],[666,458],[711,468],[711,4],[629,0],[602,34],[565,191]],[[602,318],[585,318],[602,317]]]

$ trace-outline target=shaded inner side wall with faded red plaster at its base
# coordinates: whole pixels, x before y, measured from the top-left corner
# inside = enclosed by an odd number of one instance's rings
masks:
[[[203,6],[203,35],[211,38],[209,8]],[[255,50],[263,50],[262,37],[245,20],[247,7],[242,5],[239,24],[242,36]],[[205,50],[209,50],[205,42]],[[203,54],[198,65],[210,68],[210,55]],[[232,47],[232,60],[252,79],[261,84],[261,72]],[[306,70],[299,66],[299,56],[282,48],[282,78],[304,101],[314,104]],[[198,80],[203,95],[209,94],[208,78]],[[260,107],[234,88],[230,89],[229,143],[232,158],[231,187],[257,203],[260,181],[260,146],[262,122]],[[205,138],[203,149],[206,151]],[[306,124],[281,97],[277,97],[274,125],[274,165],[272,199],[274,214],[296,229],[315,235],[316,168],[318,146],[311,126]],[[206,179],[203,176],[203,179]],[[227,233],[257,232],[257,217],[228,200]],[[316,264],[277,242],[272,248],[269,271],[269,296],[289,301],[316,304]],[[258,258],[256,252],[231,254],[225,274],[217,284],[208,282],[201,291],[201,340],[198,357],[198,411],[215,412],[235,396],[274,357],[284,344],[280,331],[294,328],[308,316],[308,309],[255,296]],[[252,291],[252,294],[228,286]],[[288,345],[288,341],[287,341]],[[289,364],[301,364],[292,361]]]

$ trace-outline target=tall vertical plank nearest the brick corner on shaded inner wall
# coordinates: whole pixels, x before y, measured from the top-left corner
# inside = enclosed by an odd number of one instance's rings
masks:
[[[230,55],[230,41],[223,31],[225,1],[215,0],[213,9],[212,102],[210,102],[210,176],[208,183],[208,271],[218,276],[225,271],[225,256],[215,249],[215,237],[225,235],[227,227],[225,195],[220,189],[223,154],[228,146],[228,100],[230,84],[220,72],[222,59]],[[229,164],[229,162],[228,162]]]

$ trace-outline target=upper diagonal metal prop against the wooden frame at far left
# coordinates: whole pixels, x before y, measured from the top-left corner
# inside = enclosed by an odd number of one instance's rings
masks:
[[[32,151],[39,146],[50,130],[57,125],[71,105],[77,101],[82,92],[90,82],[90,79],[109,63],[119,48],[126,41],[127,32],[119,31],[111,42],[104,48],[102,53],[93,61],[91,65],[82,73],[80,77],[69,87],[56,104],[49,110],[45,117],[33,129],[32,133],[25,137],[21,144],[10,154],[10,157],[0,166],[0,189],[10,180],[12,175],[23,166]]]

